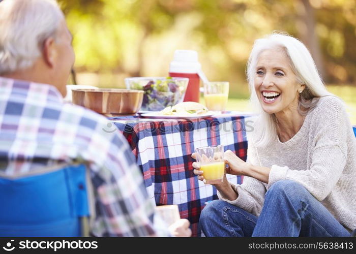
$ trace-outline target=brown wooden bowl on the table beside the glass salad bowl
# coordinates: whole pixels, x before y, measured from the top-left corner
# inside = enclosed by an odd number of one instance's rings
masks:
[[[107,116],[133,115],[141,108],[143,91],[128,89],[73,89],[73,104]]]

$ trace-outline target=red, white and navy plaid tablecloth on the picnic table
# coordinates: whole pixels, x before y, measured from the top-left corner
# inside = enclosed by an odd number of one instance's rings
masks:
[[[224,150],[230,149],[246,161],[245,117],[167,120],[130,116],[110,120],[128,140],[152,201],[156,205],[178,205],[181,218],[191,223],[193,236],[200,236],[200,211],[217,195],[215,187],[205,185],[193,174],[191,154],[196,147],[222,144]],[[227,178],[233,183],[242,181],[240,176]]]

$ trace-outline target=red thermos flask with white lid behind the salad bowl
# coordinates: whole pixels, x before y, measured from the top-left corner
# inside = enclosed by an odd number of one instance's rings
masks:
[[[201,65],[194,50],[175,50],[169,76],[189,78],[184,102],[199,102]]]

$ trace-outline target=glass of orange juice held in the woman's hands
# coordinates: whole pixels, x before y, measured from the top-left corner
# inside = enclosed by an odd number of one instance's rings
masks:
[[[197,162],[203,171],[204,183],[220,183],[224,179],[224,146],[213,145],[195,149]]]

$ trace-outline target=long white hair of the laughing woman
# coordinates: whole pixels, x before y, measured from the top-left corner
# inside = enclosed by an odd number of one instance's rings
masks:
[[[300,94],[298,106],[298,111],[302,115],[307,114],[309,110],[316,106],[318,98],[332,95],[332,93],[328,92],[325,88],[311,54],[301,41],[284,33],[274,33],[265,38],[256,40],[247,63],[246,74],[251,92],[250,103],[260,114],[260,124],[263,126],[261,137],[257,140],[261,146],[266,146],[278,138],[276,128],[277,119],[275,114],[269,114],[263,111],[254,87],[254,78],[257,71],[257,60],[261,52],[266,49],[275,48],[281,48],[284,51],[289,60],[290,67],[296,75],[297,81],[305,85],[305,89]]]

